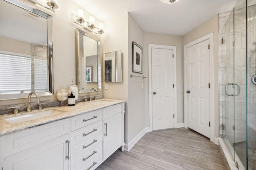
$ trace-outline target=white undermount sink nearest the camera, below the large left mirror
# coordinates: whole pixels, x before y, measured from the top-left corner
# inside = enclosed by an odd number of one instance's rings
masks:
[[[13,116],[13,117],[6,117],[6,118],[4,118],[4,120],[8,121],[11,124],[15,124],[15,123],[20,123],[20,122],[24,122],[24,121],[29,121],[29,120],[33,120],[33,119],[39,119],[42,117],[51,116],[51,115],[62,113],[62,112],[63,111],[59,111],[56,109],[48,109],[48,110],[30,112],[28,114],[22,114],[22,115],[17,115],[17,116]]]

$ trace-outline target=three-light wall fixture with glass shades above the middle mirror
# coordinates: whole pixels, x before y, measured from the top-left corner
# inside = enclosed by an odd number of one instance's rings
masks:
[[[84,11],[79,9],[77,12],[77,16],[73,14],[74,23],[82,26],[84,29],[91,31],[92,33],[96,33],[98,35],[102,35],[104,33],[103,28],[104,24],[102,22],[99,23],[99,27],[95,26],[95,19],[93,16],[90,16],[89,22],[84,20]],[[94,29],[98,29],[98,31],[94,31]]]

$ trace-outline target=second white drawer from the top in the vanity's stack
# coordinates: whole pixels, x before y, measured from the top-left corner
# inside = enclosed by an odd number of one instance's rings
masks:
[[[72,132],[71,146],[87,140],[94,135],[102,135],[102,120]]]

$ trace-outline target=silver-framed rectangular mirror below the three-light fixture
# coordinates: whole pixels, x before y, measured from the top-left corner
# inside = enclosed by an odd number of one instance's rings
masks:
[[[101,90],[100,38],[76,29],[76,84],[79,93]]]

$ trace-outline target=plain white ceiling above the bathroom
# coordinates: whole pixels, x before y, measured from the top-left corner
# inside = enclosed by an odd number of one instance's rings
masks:
[[[231,11],[237,0],[72,0],[99,20],[129,12],[147,32],[185,35],[217,14]]]

